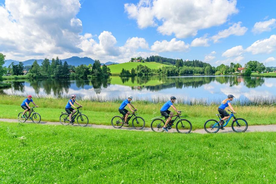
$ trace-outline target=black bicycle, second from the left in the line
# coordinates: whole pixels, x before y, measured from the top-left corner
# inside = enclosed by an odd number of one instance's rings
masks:
[[[88,117],[80,111],[80,108],[82,106],[77,107],[77,111],[72,115],[71,120],[72,123],[75,122],[75,118],[77,118],[77,122],[79,126],[87,126],[88,124]],[[69,114],[67,112],[62,112],[61,115],[59,116],[59,122],[62,125],[69,125]]]

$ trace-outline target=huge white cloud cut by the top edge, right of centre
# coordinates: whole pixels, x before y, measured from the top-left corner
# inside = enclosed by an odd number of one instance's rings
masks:
[[[221,25],[238,12],[236,0],[140,0],[136,5],[126,3],[125,11],[138,27],[157,26],[159,33],[176,38],[195,36],[198,30]]]

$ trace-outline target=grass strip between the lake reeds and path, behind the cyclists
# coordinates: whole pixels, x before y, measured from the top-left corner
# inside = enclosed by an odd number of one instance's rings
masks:
[[[0,118],[16,119],[19,112],[22,112],[21,103],[24,97],[19,96],[0,96]],[[54,98],[33,98],[33,101],[39,105],[35,111],[41,115],[42,121],[59,122],[61,112],[65,112],[65,105],[68,99]],[[113,116],[120,115],[118,108],[121,102],[91,102],[78,101],[83,113],[88,116],[90,124],[111,125]],[[30,103],[30,105],[33,105]],[[146,127],[150,127],[151,119],[160,116],[160,108],[163,104],[153,104],[144,101],[133,101],[133,105],[138,109],[138,116],[144,118]],[[128,108],[128,107],[127,107]],[[182,111],[182,115],[190,120],[193,129],[203,129],[205,121],[209,119],[218,120],[215,114],[217,106],[188,106],[176,104],[176,108]],[[237,112],[237,118],[244,118],[250,125],[268,125],[276,124],[276,106],[234,106]],[[176,114],[176,113],[175,113]],[[231,126],[229,123],[227,126]]]

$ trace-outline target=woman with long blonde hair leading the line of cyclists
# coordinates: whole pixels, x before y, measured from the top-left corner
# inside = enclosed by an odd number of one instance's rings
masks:
[[[218,107],[218,112],[221,114],[220,117],[222,118],[219,123],[220,123],[220,129],[224,130],[223,128],[223,121],[227,120],[230,115],[225,111],[225,108],[228,109],[227,107],[229,106],[229,108],[234,112],[234,109],[231,105],[231,101],[233,100],[233,98],[235,98],[233,95],[228,95],[227,98],[221,102],[220,106]]]

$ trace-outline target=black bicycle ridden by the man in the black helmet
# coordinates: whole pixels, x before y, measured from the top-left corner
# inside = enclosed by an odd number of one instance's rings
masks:
[[[181,111],[178,111],[181,113]],[[173,120],[173,117],[176,118]],[[179,116],[179,114],[177,113],[177,115],[175,115],[172,117],[172,120],[170,120],[170,122],[167,124],[167,129],[171,129],[173,126],[173,123],[176,122],[177,119],[179,119],[179,121],[176,123],[176,130],[178,133],[190,133],[192,130],[192,123],[189,120],[186,119],[181,119],[184,116]],[[162,129],[162,127],[165,125],[167,118],[165,118],[164,120],[161,119],[161,117],[164,116],[159,116],[159,117],[154,117],[152,118],[152,122],[151,122],[151,130],[154,132],[163,132],[164,130]]]

